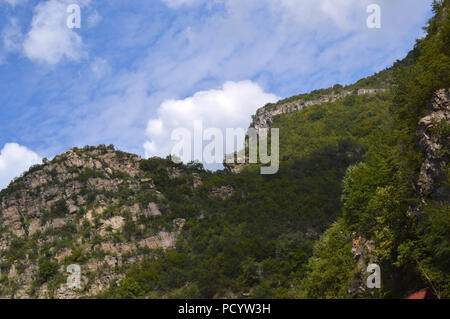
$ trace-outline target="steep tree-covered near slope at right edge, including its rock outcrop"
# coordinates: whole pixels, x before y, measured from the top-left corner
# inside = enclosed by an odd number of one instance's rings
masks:
[[[426,38],[396,71],[392,132],[344,178],[343,219],[316,246],[303,283],[308,297],[401,298],[423,288],[450,296],[450,1],[435,1],[433,11]],[[332,251],[349,245],[349,237],[355,248],[371,242],[362,265],[380,264],[379,291],[364,289],[361,254]]]

